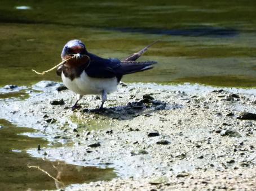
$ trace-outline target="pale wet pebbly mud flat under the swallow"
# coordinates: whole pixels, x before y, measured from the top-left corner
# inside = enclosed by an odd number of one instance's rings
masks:
[[[76,95],[63,89],[41,81],[17,90],[28,96],[2,95],[0,118],[62,144],[34,157],[118,175],[65,190],[255,189],[255,89],[122,84],[103,111],[94,95],[71,111]]]

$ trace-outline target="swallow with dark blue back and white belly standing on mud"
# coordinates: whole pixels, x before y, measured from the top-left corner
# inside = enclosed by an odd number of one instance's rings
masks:
[[[123,60],[96,56],[88,52],[85,44],[78,39],[66,43],[61,52],[61,59],[69,60],[58,67],[56,74],[61,76],[63,84],[69,90],[77,94],[77,101],[72,110],[78,108],[78,102],[83,95],[89,94],[101,95],[99,110],[102,110],[103,104],[107,101],[107,94],[117,90],[123,75],[153,68],[152,65],[157,63],[156,61],[136,60],[157,42],[158,40]]]

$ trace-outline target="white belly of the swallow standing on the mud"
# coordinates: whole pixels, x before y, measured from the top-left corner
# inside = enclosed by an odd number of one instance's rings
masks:
[[[85,71],[82,72],[79,78],[72,81],[61,74],[64,85],[73,92],[80,95],[101,94],[102,90],[111,93],[117,90],[117,79],[114,78],[91,78]]]

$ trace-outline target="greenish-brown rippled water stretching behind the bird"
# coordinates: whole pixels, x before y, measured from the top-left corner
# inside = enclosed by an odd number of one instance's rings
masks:
[[[58,7],[58,8],[56,8]],[[1,1],[0,85],[60,80],[46,70],[70,39],[99,56],[125,58],[157,39],[140,61],[155,69],[123,81],[255,87],[254,1]]]

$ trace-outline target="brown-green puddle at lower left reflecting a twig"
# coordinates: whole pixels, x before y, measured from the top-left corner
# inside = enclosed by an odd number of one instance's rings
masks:
[[[116,176],[113,169],[69,165],[63,161],[30,157],[27,149],[37,148],[40,144],[41,151],[37,152],[44,153],[48,142],[24,135],[36,133],[33,129],[16,127],[3,119],[0,119],[0,127],[2,190],[56,189],[74,183],[111,180]]]

